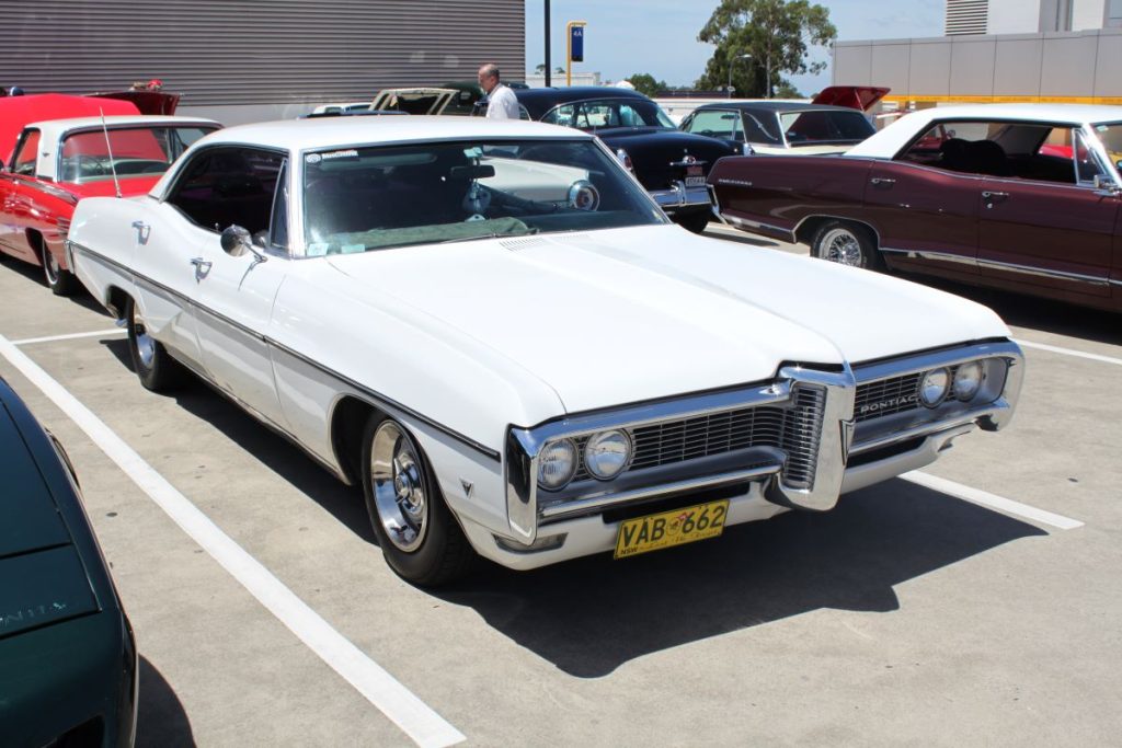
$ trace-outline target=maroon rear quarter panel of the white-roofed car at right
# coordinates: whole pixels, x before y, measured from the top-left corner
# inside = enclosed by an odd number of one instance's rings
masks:
[[[858,216],[872,165],[830,156],[732,156],[717,161],[709,184],[726,220],[792,241],[808,216]]]

